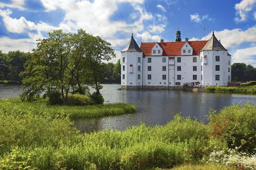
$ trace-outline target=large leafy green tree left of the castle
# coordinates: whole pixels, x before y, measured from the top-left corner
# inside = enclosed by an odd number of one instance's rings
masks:
[[[63,104],[68,94],[88,84],[100,94],[101,62],[115,57],[110,43],[79,29],[77,33],[55,30],[38,40],[25,63],[22,100],[38,99],[40,94],[61,91]]]

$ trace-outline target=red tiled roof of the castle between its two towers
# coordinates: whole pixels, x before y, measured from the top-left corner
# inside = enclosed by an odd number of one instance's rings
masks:
[[[193,48],[193,56],[200,56],[200,50],[207,44],[207,40],[202,41],[188,41],[188,44]],[[151,50],[156,42],[142,42],[141,50],[143,56],[152,56]],[[163,49],[162,56],[181,56],[181,48],[185,44],[185,41],[178,42],[163,42],[158,44]]]

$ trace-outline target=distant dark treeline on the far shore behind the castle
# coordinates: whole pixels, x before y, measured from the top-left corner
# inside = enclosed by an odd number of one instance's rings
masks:
[[[30,59],[31,53],[19,50],[3,53],[0,50],[0,80],[11,80],[20,82],[19,73],[24,71],[24,63]],[[116,63],[101,63],[101,83],[121,83],[120,59]],[[233,63],[232,82],[249,82],[256,80],[256,67],[245,63]]]

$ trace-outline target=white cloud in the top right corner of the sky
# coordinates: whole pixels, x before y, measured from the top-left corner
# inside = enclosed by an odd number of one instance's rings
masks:
[[[242,0],[240,3],[235,5],[237,10],[237,17],[235,18],[236,22],[243,22],[246,20],[246,13],[251,11],[255,5],[256,0]]]

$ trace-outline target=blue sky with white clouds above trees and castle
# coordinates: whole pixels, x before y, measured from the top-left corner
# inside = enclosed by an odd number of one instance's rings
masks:
[[[36,48],[53,29],[77,29],[109,41],[120,58],[134,33],[141,42],[208,40],[214,34],[232,63],[256,66],[256,0],[0,0],[0,50]]]

